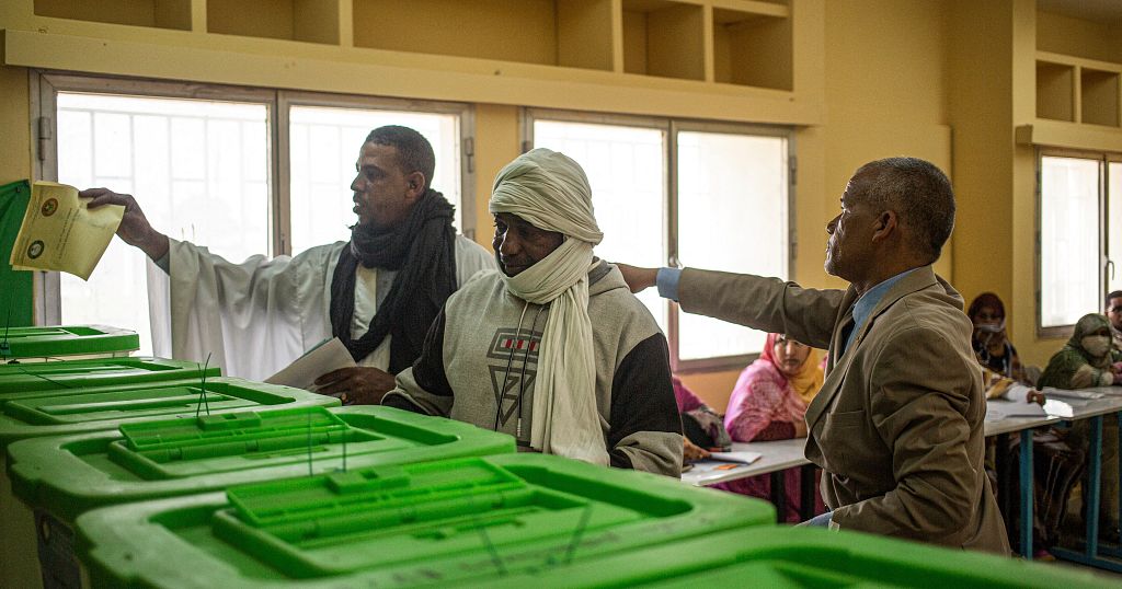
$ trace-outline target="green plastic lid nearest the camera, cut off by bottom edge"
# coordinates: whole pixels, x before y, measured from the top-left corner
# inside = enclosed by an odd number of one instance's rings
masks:
[[[1122,583],[1056,563],[857,532],[779,526],[721,532],[463,586],[1103,589]]]

